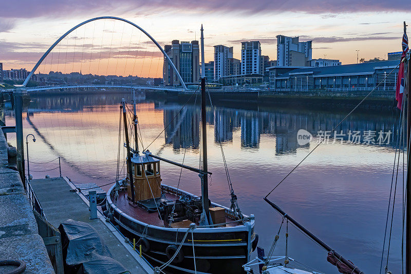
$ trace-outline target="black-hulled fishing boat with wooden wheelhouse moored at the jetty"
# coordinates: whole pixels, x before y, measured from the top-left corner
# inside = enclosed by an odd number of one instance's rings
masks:
[[[207,163],[203,41],[201,26],[201,168],[164,159],[148,150],[140,152],[135,100],[133,113],[129,113],[125,100],[120,106],[127,176],[109,189],[103,210],[128,239],[136,242],[141,255],[156,266],[158,273],[244,272],[242,265],[249,261],[258,242],[254,216],[241,213],[232,188],[230,208],[209,199],[208,176],[212,172]],[[128,116],[133,116],[130,124]],[[129,132],[134,133],[134,148]],[[198,173],[201,196],[163,184],[160,166],[165,163]]]

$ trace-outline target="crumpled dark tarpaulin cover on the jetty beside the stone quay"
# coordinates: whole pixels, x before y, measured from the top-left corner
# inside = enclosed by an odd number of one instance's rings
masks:
[[[64,270],[68,273],[123,273],[126,271],[111,254],[96,229],[89,224],[67,220],[60,224]]]

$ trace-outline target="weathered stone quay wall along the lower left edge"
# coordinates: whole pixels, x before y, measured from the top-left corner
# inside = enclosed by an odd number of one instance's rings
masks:
[[[8,168],[7,148],[0,129],[0,260],[24,261],[24,273],[54,273],[20,175]]]

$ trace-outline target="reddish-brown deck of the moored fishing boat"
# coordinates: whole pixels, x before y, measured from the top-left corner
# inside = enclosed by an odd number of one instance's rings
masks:
[[[175,201],[176,195],[165,192],[165,198]],[[178,199],[178,198],[177,198]],[[160,226],[160,227],[169,227],[169,224],[163,222],[158,218],[158,212],[147,212],[144,208],[139,206],[132,206],[128,203],[127,200],[127,190],[122,189],[119,191],[119,196],[117,200],[113,200],[114,204],[129,217],[132,217],[138,221],[144,222],[146,224]],[[235,220],[226,216],[226,227],[237,226]],[[198,222],[196,223],[197,225]]]

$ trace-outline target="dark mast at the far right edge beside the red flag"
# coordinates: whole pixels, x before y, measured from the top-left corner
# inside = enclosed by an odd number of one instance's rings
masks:
[[[404,33],[406,33],[407,25],[405,25],[404,21]],[[406,62],[406,61],[405,61]],[[411,103],[409,92],[411,89],[411,73],[409,70],[411,69],[411,62],[408,61],[404,64],[404,66],[408,66],[408,75],[407,75],[407,87],[406,87],[406,99],[407,99],[407,180],[406,180],[406,198],[405,198],[405,211],[406,211],[406,219],[405,219],[405,273],[411,274],[411,162],[410,162],[410,144],[409,144],[409,137],[411,133]],[[400,77],[400,75],[398,75]],[[405,111],[405,109],[403,110]]]

